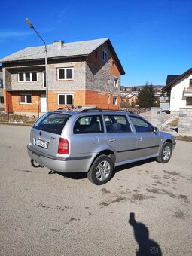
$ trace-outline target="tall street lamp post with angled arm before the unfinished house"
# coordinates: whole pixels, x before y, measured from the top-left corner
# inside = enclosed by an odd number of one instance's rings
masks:
[[[35,27],[32,25],[30,20],[26,18],[26,23],[29,25],[30,29],[33,29],[35,33],[38,35],[38,37],[41,39],[41,41],[44,43],[44,53],[45,53],[45,79],[46,79],[46,108],[47,111],[49,111],[49,103],[48,103],[48,76],[47,76],[47,44],[45,43],[44,39],[41,38],[41,35],[38,34],[37,30]]]

